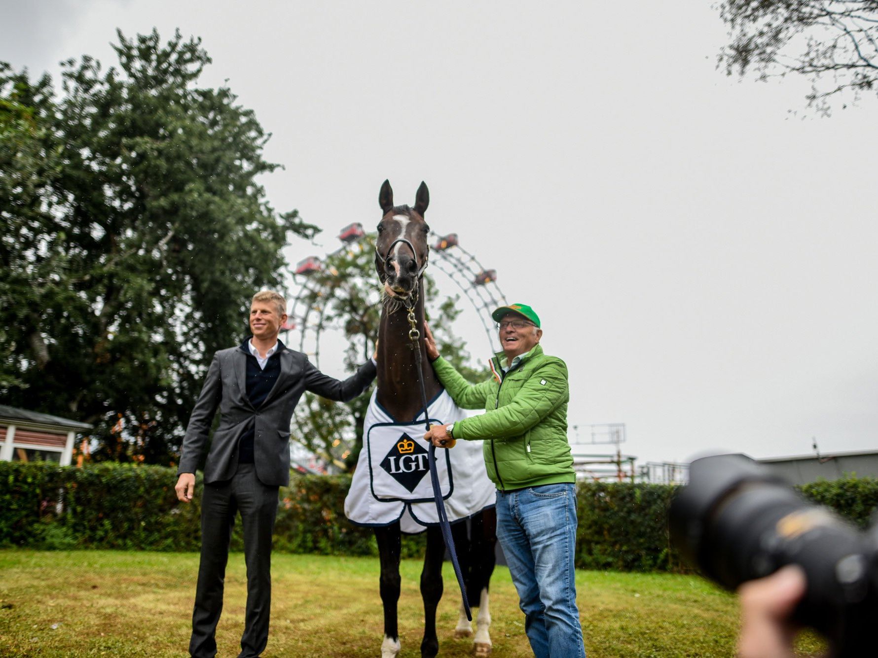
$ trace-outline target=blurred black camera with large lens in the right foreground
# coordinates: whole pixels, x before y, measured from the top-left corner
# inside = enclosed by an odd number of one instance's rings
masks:
[[[830,641],[832,655],[874,654],[878,622],[878,529],[863,533],[805,501],[743,454],[695,460],[670,509],[671,541],[728,590],[787,564],[805,572],[794,619]]]

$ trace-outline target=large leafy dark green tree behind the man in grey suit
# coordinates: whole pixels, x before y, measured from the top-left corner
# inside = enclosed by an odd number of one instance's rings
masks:
[[[168,463],[212,353],[281,288],[268,139],[200,39],[119,32],[117,67],[63,64],[61,94],[0,64],[0,396],[96,426],[99,455]]]

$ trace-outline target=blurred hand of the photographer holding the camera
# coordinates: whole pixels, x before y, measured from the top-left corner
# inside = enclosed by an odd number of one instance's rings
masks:
[[[805,593],[805,574],[795,564],[744,583],[738,658],[793,658],[796,627],[790,620]]]

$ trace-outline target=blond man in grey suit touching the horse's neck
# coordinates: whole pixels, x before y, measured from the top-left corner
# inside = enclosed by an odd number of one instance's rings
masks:
[[[271,534],[278,488],[290,482],[290,420],[299,397],[310,390],[347,402],[375,378],[374,358],[343,382],[321,373],[305,354],[277,340],[286,317],[284,297],[269,290],[255,294],[250,304],[253,337],[213,355],[186,428],[175,487],[184,503],[192,499],[195,469],[219,409],[219,427],[205,464],[201,562],[189,644],[189,653],[198,658],[217,652],[214,635],[237,512],[247,562],[247,612],[239,658],[255,658],[268,642]]]

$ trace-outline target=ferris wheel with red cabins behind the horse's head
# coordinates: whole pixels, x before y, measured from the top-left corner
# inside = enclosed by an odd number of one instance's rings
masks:
[[[355,260],[363,254],[371,254],[375,248],[374,238],[363,231],[360,223],[345,226],[337,238],[342,244],[335,251],[322,257],[308,256],[296,264],[292,280],[297,291],[287,311],[287,323],[281,327],[291,347],[297,346],[299,352],[308,354],[317,368],[320,368],[320,334],[345,328],[339,324],[338,318],[327,313],[334,301],[343,301],[342,297],[351,291],[350,285],[347,288],[340,285],[340,261]],[[469,300],[485,329],[488,342],[493,351],[497,351],[497,333],[488,318],[498,306],[507,304],[506,296],[497,284],[497,270],[484,268],[473,254],[461,247],[457,233],[440,236],[430,232],[429,239],[430,262]],[[381,298],[378,285],[361,278],[351,285],[361,295],[365,293],[368,303],[377,307]]]

